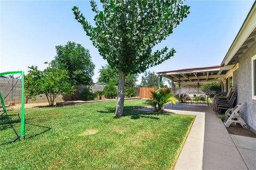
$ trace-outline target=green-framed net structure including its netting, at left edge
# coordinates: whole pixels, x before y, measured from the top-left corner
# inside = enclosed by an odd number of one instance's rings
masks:
[[[11,71],[0,73],[0,124],[2,125],[2,122],[4,122],[4,127],[6,127],[7,124],[10,124],[16,135],[14,140],[1,144],[20,140],[21,137],[25,138],[24,102],[24,72]],[[15,130],[12,121],[9,120],[9,113],[13,113],[14,111],[18,111],[20,134]]]

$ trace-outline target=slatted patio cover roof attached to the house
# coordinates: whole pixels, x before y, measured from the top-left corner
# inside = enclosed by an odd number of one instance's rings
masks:
[[[175,82],[220,81],[226,73],[233,69],[233,65],[214,65],[208,67],[195,67],[172,71],[158,72],[158,75],[174,80]]]

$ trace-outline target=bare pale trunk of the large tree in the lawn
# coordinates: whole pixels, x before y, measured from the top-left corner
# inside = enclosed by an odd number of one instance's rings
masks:
[[[124,72],[119,71],[116,117],[122,116],[124,111],[124,81],[125,81],[125,74]]]

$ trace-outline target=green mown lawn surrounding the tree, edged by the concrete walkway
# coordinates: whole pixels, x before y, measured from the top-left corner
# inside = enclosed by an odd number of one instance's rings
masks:
[[[144,102],[126,100],[121,118],[116,101],[27,109],[26,140],[0,146],[0,169],[171,169],[195,117],[133,111]],[[14,137],[0,128],[0,142]]]

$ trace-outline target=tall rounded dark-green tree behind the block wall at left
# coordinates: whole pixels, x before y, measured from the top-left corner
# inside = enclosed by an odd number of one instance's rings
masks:
[[[92,76],[95,65],[92,63],[88,49],[81,44],[68,41],[66,45],[56,46],[56,56],[51,62],[52,67],[66,69],[73,85],[93,84]]]

